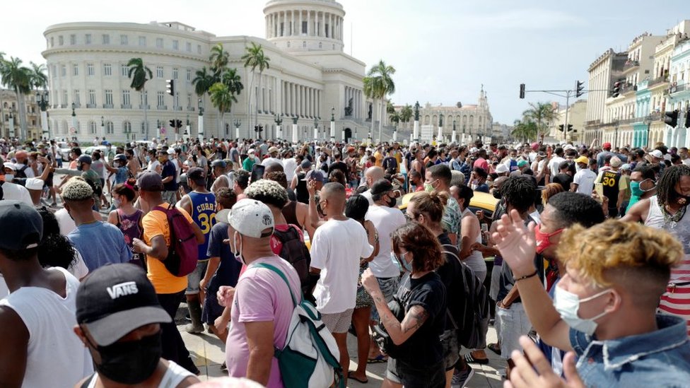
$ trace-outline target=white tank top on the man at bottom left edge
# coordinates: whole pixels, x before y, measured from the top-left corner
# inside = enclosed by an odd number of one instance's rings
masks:
[[[74,387],[93,373],[91,355],[74,335],[77,278],[66,269],[66,298],[47,288],[22,287],[0,300],[14,310],[29,332],[23,387]]]

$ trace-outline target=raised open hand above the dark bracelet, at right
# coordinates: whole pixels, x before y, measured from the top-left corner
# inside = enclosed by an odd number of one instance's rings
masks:
[[[503,214],[491,237],[516,278],[534,273],[534,253],[537,250],[534,223],[525,226],[520,213],[512,210],[510,215]]]

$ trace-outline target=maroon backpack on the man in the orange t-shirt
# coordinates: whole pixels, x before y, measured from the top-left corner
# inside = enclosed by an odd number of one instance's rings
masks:
[[[175,206],[170,205],[168,208],[156,206],[153,210],[162,211],[168,217],[170,247],[168,247],[168,257],[163,260],[165,269],[177,277],[191,274],[197,268],[199,260],[199,244],[192,224]]]

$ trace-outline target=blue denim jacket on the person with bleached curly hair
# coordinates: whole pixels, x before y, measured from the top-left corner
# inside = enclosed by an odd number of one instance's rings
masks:
[[[657,314],[659,329],[597,341],[571,329],[578,372],[587,387],[689,387],[690,341],[686,322]]]

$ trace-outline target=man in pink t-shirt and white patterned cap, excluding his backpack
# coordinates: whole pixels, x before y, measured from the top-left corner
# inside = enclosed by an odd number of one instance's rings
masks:
[[[242,199],[232,209],[219,211],[216,220],[228,223],[230,249],[247,266],[232,299],[226,343],[228,374],[247,377],[268,388],[281,388],[283,381],[274,348],[285,346],[295,307],[290,291],[301,302],[300,278],[288,261],[271,250],[274,218],[268,206]],[[290,290],[279,274],[257,266],[259,263],[270,264],[283,272]],[[227,301],[229,293],[231,288],[221,287],[218,299]]]

